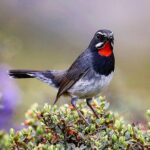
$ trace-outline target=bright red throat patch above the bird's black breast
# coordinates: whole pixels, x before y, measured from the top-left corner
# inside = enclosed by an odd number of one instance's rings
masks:
[[[98,54],[101,56],[105,56],[105,57],[110,56],[112,54],[112,49],[111,49],[110,43],[109,42],[105,43],[103,48],[98,50]]]

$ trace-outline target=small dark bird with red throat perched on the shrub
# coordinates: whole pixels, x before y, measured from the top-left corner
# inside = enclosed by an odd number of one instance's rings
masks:
[[[9,70],[13,78],[36,78],[58,89],[54,104],[61,96],[69,96],[72,106],[86,122],[76,106],[78,99],[86,99],[86,103],[99,118],[91,101],[100,95],[112,80],[115,69],[113,52],[114,35],[111,30],[98,30],[87,48],[76,58],[66,70]]]

